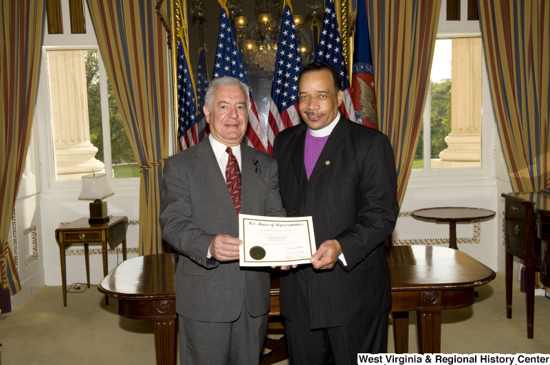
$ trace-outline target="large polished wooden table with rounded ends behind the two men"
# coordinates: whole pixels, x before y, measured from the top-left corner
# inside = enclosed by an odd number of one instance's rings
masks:
[[[446,247],[387,249],[392,275],[395,351],[408,352],[408,311],[417,312],[419,351],[441,352],[441,311],[474,303],[474,287],[492,281],[493,270],[464,252]],[[148,255],[120,263],[100,283],[118,298],[118,314],[155,322],[157,364],[176,364],[175,269],[178,254]],[[278,314],[278,282],[272,281],[272,309]]]

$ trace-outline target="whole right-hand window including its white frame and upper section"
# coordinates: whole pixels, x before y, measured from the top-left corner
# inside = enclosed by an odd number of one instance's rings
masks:
[[[494,126],[483,42],[479,22],[467,20],[466,2],[461,1],[459,21],[448,21],[448,4],[441,3],[411,177],[487,174],[492,164]]]

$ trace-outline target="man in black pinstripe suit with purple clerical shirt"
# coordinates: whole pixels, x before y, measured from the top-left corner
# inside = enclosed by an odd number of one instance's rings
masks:
[[[344,119],[342,79],[323,62],[300,75],[305,124],[274,143],[288,217],[313,216],[318,250],[311,266],[281,274],[281,314],[290,362],[357,364],[358,353],[384,353],[391,280],[384,239],[399,213],[391,143]],[[288,269],[283,267],[283,269]]]

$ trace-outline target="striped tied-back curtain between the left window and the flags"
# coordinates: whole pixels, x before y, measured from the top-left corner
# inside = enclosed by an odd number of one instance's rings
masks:
[[[122,123],[141,165],[140,255],[162,253],[159,183],[170,123],[166,31],[155,1],[87,3]]]

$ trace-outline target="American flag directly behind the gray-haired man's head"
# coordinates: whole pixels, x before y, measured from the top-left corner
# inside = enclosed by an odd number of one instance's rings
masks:
[[[241,58],[241,52],[236,45],[235,32],[232,30],[228,17],[228,8],[225,6],[227,0],[219,0],[221,6],[221,19],[219,21],[219,34],[216,50],[216,63],[214,64],[214,79],[223,76],[238,78],[250,87],[245,65]],[[250,111],[248,112],[248,128],[246,129],[245,141],[262,152],[267,153],[267,137],[258,117],[256,105],[252,99],[252,91],[249,92]]]

